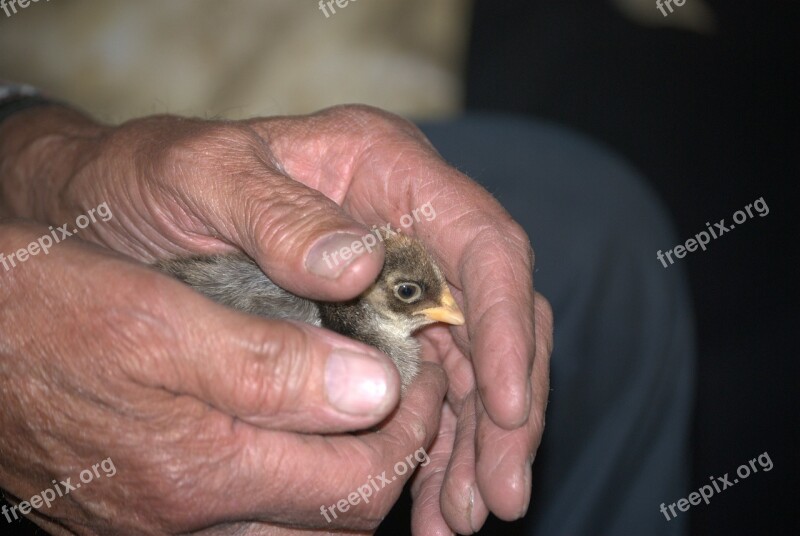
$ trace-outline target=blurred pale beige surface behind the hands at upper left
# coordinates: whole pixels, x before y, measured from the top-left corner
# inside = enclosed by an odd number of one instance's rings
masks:
[[[318,0],[40,0],[0,11],[0,79],[113,122],[349,102],[415,118],[460,109],[469,0],[332,4],[326,18]]]

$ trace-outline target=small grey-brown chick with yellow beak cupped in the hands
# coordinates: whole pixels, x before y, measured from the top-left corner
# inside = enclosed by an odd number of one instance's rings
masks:
[[[234,309],[322,326],[374,346],[394,360],[405,387],[419,371],[420,344],[412,334],[435,322],[461,325],[464,315],[442,271],[418,240],[395,233],[384,245],[378,279],[346,302],[295,296],[244,254],[179,258],[155,266]]]

